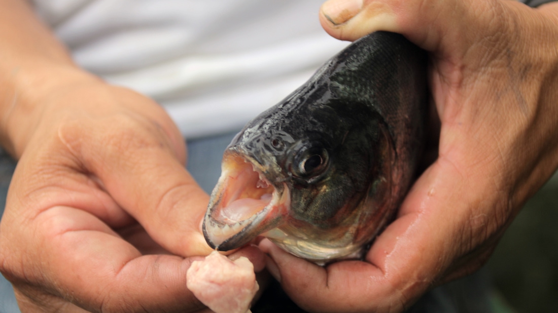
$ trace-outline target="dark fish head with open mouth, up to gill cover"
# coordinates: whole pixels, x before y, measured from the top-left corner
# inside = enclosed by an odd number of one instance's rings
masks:
[[[367,106],[323,102],[300,123],[264,113],[233,139],[203,222],[211,247],[263,236],[317,263],[362,254],[392,213],[392,139]]]

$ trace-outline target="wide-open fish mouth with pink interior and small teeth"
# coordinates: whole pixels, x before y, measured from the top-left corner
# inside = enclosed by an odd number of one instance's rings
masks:
[[[244,246],[276,228],[290,207],[285,183],[272,184],[258,163],[227,150],[222,174],[209,200],[203,221],[211,248],[228,251]]]

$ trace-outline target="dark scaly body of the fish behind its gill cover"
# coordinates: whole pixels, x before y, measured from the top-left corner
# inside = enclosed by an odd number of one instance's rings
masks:
[[[330,75],[332,85],[342,86],[333,88],[337,97],[367,104],[389,131],[396,150],[392,196],[401,199],[416,174],[424,140],[426,52],[402,35],[376,32],[336,58],[344,60]]]

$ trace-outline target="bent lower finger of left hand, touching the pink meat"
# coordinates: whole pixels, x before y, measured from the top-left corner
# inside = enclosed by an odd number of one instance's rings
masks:
[[[203,307],[186,287],[192,259],[142,256],[102,221],[80,209],[54,207],[35,221],[35,238],[48,240],[39,240],[42,250],[30,250],[29,257],[40,258],[41,266],[24,271],[28,280],[46,287],[42,291],[88,311],[194,311]]]

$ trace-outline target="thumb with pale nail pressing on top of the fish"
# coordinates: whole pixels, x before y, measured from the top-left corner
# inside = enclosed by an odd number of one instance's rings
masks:
[[[488,27],[492,17],[498,13],[497,3],[471,0],[329,0],[321,6],[320,22],[326,32],[340,40],[353,41],[374,31],[390,31],[401,33],[425,50],[436,51],[446,42],[452,45],[472,43],[477,34],[467,28],[472,23]]]

